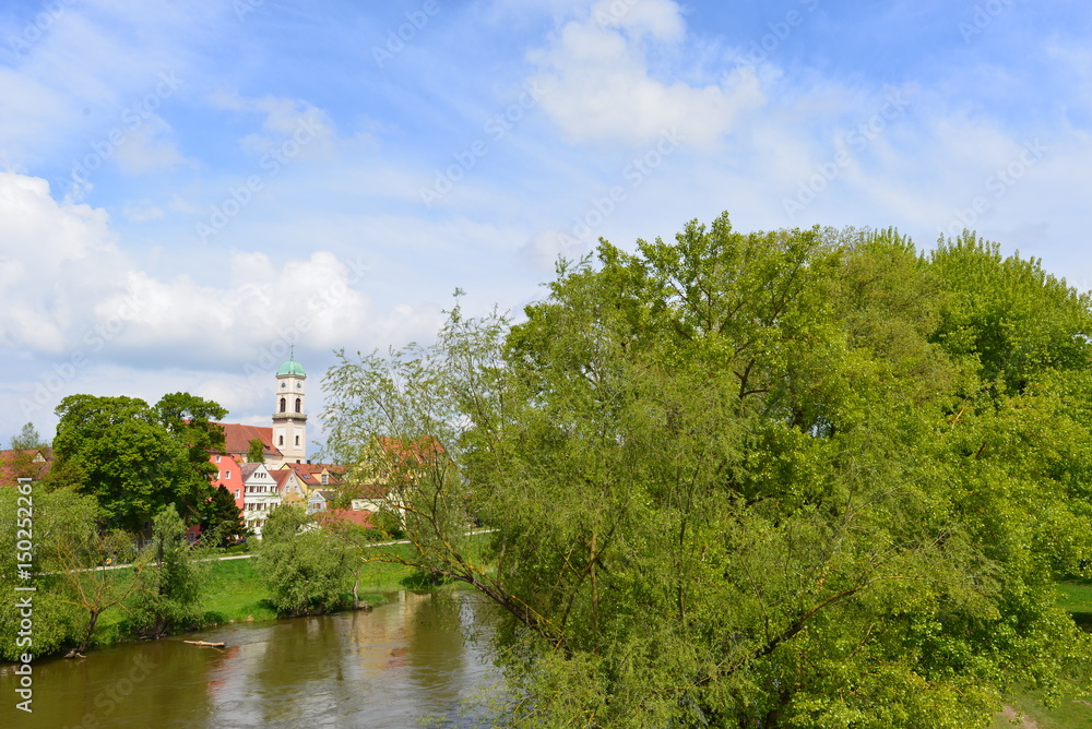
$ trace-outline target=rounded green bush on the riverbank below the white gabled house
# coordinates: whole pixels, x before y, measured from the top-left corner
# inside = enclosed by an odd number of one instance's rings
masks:
[[[322,614],[343,607],[342,587],[348,572],[345,549],[301,506],[282,504],[270,513],[257,559],[270,601],[280,614]]]

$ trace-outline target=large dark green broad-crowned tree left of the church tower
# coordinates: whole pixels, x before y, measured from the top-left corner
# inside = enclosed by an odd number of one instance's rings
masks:
[[[57,407],[50,478],[94,495],[111,525],[132,531],[167,504],[193,518],[212,495],[207,450],[218,446],[207,417],[223,414],[183,393],[154,408],[134,397],[69,395]]]

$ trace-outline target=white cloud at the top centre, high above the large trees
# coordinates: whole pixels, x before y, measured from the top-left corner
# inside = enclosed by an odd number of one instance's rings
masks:
[[[654,142],[677,130],[708,147],[732,131],[738,117],[762,105],[752,69],[693,86],[662,80],[650,69],[650,48],[682,43],[686,26],[672,0],[601,0],[565,25],[545,49],[531,55],[548,93],[542,106],[570,139]]]

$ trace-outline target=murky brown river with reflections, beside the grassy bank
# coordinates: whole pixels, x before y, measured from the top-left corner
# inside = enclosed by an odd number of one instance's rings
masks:
[[[426,716],[477,726],[461,701],[496,680],[489,608],[472,593],[395,593],[371,612],[228,625],[34,664],[34,713],[0,667],[0,727],[365,727]],[[183,640],[223,641],[226,648]]]

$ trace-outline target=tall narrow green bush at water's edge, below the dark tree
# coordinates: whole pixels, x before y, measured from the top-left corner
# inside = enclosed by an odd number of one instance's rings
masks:
[[[156,514],[146,549],[150,564],[142,589],[129,605],[129,630],[159,637],[197,623],[201,583],[209,570],[200,561],[202,550],[187,541],[186,524],[174,505]]]

